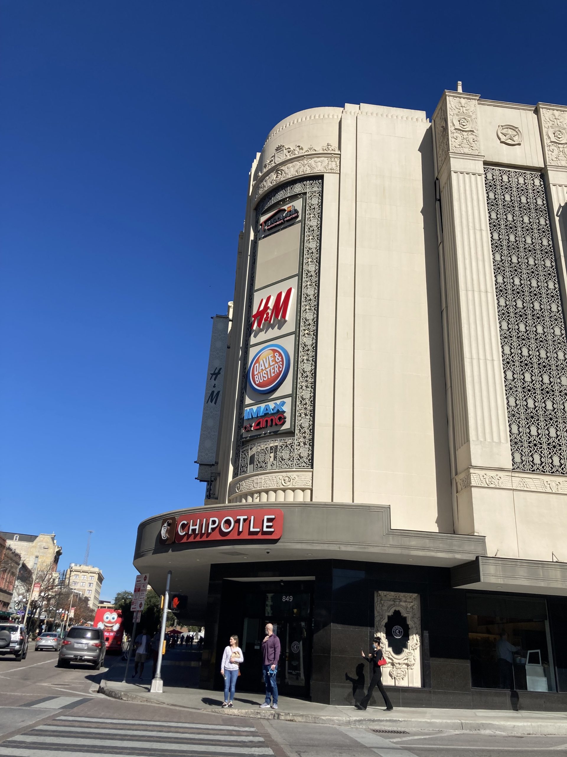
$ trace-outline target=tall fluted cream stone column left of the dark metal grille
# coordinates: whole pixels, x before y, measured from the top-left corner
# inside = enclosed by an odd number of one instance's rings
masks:
[[[471,466],[512,467],[478,99],[445,92],[433,116],[457,468],[452,475]],[[460,497],[458,509],[457,532],[477,531],[468,494]]]

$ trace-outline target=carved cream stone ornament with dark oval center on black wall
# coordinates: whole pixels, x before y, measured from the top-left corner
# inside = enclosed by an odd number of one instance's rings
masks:
[[[402,618],[402,621],[399,622],[397,618]],[[393,626],[392,620],[396,620]],[[393,683],[394,686],[420,687],[420,595],[376,591],[374,593],[374,633],[380,636],[382,641],[380,648],[388,660],[388,665],[383,668],[383,672],[386,673],[384,683],[386,685]],[[390,640],[389,636],[391,636]],[[391,680],[388,681],[388,678]]]

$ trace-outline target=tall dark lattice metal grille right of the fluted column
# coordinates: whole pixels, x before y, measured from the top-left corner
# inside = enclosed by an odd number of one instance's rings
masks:
[[[513,469],[567,473],[567,339],[544,179],[485,167]]]

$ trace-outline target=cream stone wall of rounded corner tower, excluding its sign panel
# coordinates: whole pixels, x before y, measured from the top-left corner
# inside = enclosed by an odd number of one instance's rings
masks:
[[[221,455],[218,500],[246,501],[237,495],[248,488],[252,501],[289,500],[290,489],[294,500],[387,500],[392,525],[453,530],[439,294],[428,300],[438,288],[430,128],[420,111],[348,105],[296,114],[268,136],[253,165],[231,343],[249,319],[253,204],[290,178],[323,173],[312,474],[258,488],[256,472],[234,475]],[[225,378],[226,449],[238,357]]]

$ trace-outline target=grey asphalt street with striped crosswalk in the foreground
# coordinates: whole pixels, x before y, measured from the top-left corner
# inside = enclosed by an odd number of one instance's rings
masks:
[[[107,671],[57,668],[29,650],[0,658],[0,757],[544,757],[567,755],[567,737],[426,734],[227,718],[136,704],[97,693]],[[116,658],[107,658],[107,664]]]

